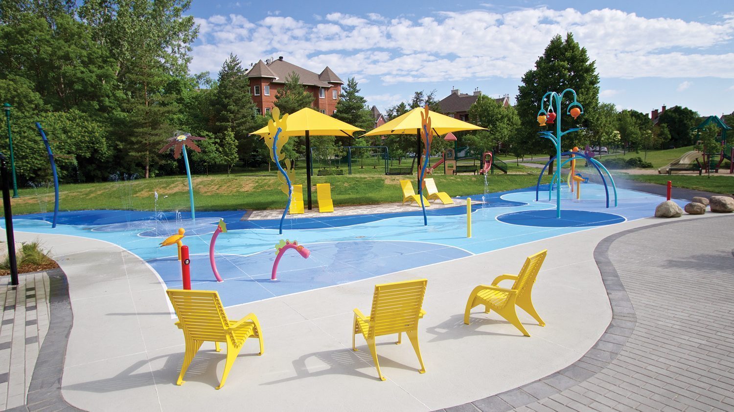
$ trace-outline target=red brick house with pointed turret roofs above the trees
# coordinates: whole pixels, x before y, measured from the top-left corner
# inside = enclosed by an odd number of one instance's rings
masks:
[[[268,59],[266,62],[260,60],[247,70],[250,93],[255,106],[258,106],[258,113],[269,113],[275,107],[277,90],[283,87],[286,78],[293,72],[298,74],[306,92],[313,94],[313,108],[330,116],[334,114],[344,81],[328,66],[320,74],[316,74],[286,62],[283,56],[277,60]]]

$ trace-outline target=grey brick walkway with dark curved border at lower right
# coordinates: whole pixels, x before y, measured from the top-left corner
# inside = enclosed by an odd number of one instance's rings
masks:
[[[733,235],[734,216],[719,216],[607,238],[600,341],[546,378],[448,410],[734,411]]]

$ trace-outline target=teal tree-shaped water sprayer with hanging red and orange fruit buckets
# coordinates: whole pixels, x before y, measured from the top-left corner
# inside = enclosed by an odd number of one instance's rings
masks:
[[[576,100],[576,92],[573,89],[565,89],[563,92],[547,92],[543,95],[540,100],[540,110],[538,111],[538,123],[541,126],[545,126],[546,123],[556,122],[556,134],[550,130],[543,130],[538,132],[540,136],[545,137],[553,144],[556,145],[556,161],[559,163],[559,167],[556,168],[556,172],[553,173],[553,180],[551,180],[551,188],[556,185],[556,218],[561,218],[561,138],[566,133],[575,132],[582,128],[570,128],[565,131],[561,131],[561,103],[564,95],[570,93],[573,95],[573,102],[566,107],[566,114],[570,114],[574,119],[584,113],[584,106],[578,103]],[[546,100],[548,105],[546,106]],[[549,192],[550,193],[550,192]]]

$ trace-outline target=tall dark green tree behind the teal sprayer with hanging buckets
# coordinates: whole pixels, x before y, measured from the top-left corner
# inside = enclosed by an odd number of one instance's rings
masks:
[[[545,92],[562,92],[564,89],[574,89],[578,95],[578,102],[584,106],[584,115],[577,120],[565,114],[565,108],[572,101],[568,95],[562,102],[563,113],[559,114],[564,129],[575,126],[591,128],[597,120],[599,101],[599,75],[595,62],[589,61],[586,48],[573,40],[573,34],[567,33],[564,40],[556,35],[545,48],[545,52],[535,62],[535,68],[528,70],[522,78],[523,84],[518,87],[516,98],[517,114],[520,117],[518,139],[526,143],[532,152],[546,152],[555,155],[555,148],[547,139],[537,136],[537,112],[540,109],[540,99]],[[562,140],[563,150],[568,150],[581,144],[578,136],[570,133]],[[553,165],[548,173],[553,173]]]

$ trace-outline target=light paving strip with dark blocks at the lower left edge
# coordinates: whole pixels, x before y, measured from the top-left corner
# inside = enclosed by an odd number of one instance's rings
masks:
[[[0,325],[0,409],[23,405],[38,352],[48,331],[48,274],[21,274],[18,286],[2,278]]]

